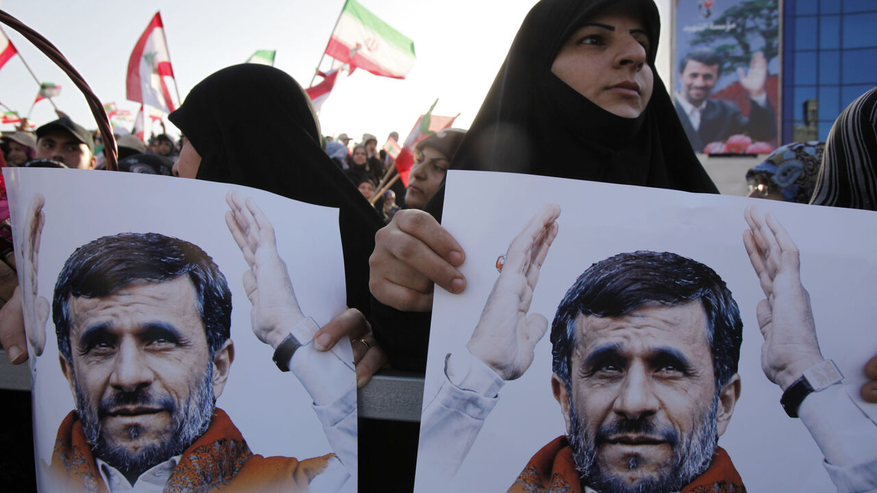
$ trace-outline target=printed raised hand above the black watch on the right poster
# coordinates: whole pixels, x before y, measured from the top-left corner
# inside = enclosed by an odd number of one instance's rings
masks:
[[[783,390],[806,370],[824,361],[816,340],[810,296],[801,283],[798,247],[771,215],[752,205],[744,213],[743,242],[766,299],[756,308],[761,335],[761,369]]]

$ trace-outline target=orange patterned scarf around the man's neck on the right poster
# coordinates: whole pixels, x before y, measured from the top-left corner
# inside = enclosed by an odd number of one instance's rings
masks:
[[[558,437],[542,447],[511,485],[510,493],[581,493],[579,471],[567,437]],[[709,468],[682,489],[681,493],[745,493],[743,480],[722,447],[716,448]]]

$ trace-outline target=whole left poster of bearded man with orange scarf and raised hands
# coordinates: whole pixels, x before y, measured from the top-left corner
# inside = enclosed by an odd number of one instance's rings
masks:
[[[312,343],[345,311],[338,211],[163,176],[6,177],[40,490],[355,491],[353,354]]]

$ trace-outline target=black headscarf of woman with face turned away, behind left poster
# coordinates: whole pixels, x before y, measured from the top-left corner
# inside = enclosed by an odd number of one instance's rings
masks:
[[[201,154],[199,180],[338,207],[347,305],[368,312],[368,256],[383,221],[325,154],[310,99],[292,77],[265,65],[223,68],[168,118]]]

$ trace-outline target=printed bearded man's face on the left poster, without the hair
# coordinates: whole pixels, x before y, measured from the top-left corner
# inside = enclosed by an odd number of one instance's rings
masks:
[[[61,368],[96,456],[131,470],[182,453],[210,424],[224,382],[214,378],[227,371],[214,373],[189,277],[70,307],[72,361],[61,356]]]

